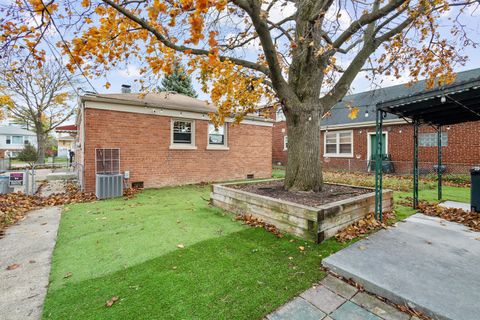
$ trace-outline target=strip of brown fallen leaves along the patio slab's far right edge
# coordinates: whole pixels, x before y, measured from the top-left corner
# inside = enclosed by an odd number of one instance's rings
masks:
[[[470,228],[472,231],[480,231],[480,213],[478,212],[464,211],[456,208],[445,208],[426,201],[420,201],[418,209],[427,216],[439,217],[447,221],[457,222]]]

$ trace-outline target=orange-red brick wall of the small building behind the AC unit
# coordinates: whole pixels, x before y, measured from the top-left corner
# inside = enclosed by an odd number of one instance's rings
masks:
[[[195,120],[196,150],[170,150],[170,117],[85,109],[85,190],[95,188],[95,148],[120,148],[120,170],[146,188],[270,177],[272,128],[229,125],[228,147],[206,150],[208,121]]]

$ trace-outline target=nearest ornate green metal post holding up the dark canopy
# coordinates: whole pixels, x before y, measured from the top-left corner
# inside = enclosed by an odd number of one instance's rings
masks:
[[[382,129],[383,129],[383,115],[384,111],[377,109],[376,113],[376,126],[375,126],[375,138],[376,148],[375,152],[375,219],[382,221],[382,198],[383,198],[383,181],[382,181],[382,164],[383,164],[383,154],[382,154]]]

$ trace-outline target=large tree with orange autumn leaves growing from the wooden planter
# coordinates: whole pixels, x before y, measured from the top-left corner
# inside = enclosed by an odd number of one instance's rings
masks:
[[[462,20],[476,6],[477,0],[14,0],[3,8],[0,50],[24,47],[42,62],[41,39],[53,31],[71,71],[97,78],[134,62],[144,87],[186,61],[218,108],[215,122],[232,115],[240,121],[259,105],[281,106],[289,131],[286,187],[318,190],[320,143],[310,141],[319,140],[321,118],[354,79],[364,73],[422,77],[430,86],[435,78],[452,82],[454,66],[466,61],[462,48],[477,45]],[[352,117],[357,111],[351,107]]]

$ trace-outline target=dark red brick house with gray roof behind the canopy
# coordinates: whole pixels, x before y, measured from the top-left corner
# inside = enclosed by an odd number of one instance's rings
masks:
[[[480,79],[480,68],[457,74],[456,83]],[[424,81],[413,86],[397,85],[346,96],[322,120],[322,156],[326,167],[367,171],[375,145],[375,110],[381,101],[426,91]],[[440,98],[440,97],[439,97]],[[480,103],[480,102],[479,102]],[[349,106],[360,109],[357,118],[350,119]],[[273,163],[286,164],[288,133],[285,118],[277,112],[273,128]],[[423,125],[419,130],[419,162],[424,172],[433,171],[437,161],[437,133]],[[480,121],[442,128],[442,154],[447,172],[468,173],[471,165],[480,163]],[[413,159],[413,126],[406,120],[387,114],[382,139],[384,153],[394,163],[396,173],[408,173]]]

